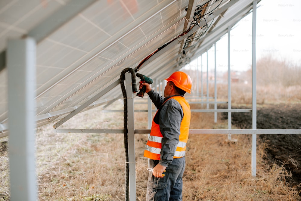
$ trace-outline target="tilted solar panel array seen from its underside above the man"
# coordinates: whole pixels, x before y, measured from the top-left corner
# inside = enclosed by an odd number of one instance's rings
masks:
[[[7,40],[30,36],[35,27],[49,23],[56,11],[79,8],[75,0],[2,0],[0,2],[0,50]],[[119,79],[126,67],[141,66],[140,73],[163,79],[208,50],[252,9],[252,0],[107,0],[91,1],[74,17],[61,18],[62,26],[51,34],[37,34],[36,115],[37,126],[63,118],[95,94]],[[202,7],[193,7],[202,5]],[[231,6],[228,6],[233,4]],[[200,9],[199,19],[185,27],[187,9]],[[229,7],[229,8],[228,8]],[[68,10],[66,9],[66,10]],[[188,9],[189,10],[189,9]],[[215,15],[215,13],[221,14]],[[198,17],[195,15],[194,19]],[[205,23],[206,22],[206,23]],[[172,47],[163,45],[183,35],[184,29],[205,23]],[[202,28],[202,29],[201,29]],[[186,36],[187,38],[187,36]],[[186,44],[186,46],[185,46]],[[183,54],[183,48],[185,54]],[[1,57],[2,60],[5,57]],[[3,63],[3,62],[0,62]],[[0,131],[7,131],[7,69],[0,66]],[[92,105],[120,98],[116,85]],[[87,108],[88,109],[88,108]]]

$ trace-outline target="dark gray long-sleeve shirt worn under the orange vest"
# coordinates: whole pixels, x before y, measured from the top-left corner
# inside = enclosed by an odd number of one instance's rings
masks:
[[[159,124],[163,135],[159,164],[167,167],[173,161],[173,156],[179,142],[180,125],[184,116],[183,109],[177,100],[173,98],[169,99],[172,96],[163,98],[153,89],[147,94],[158,109],[157,114],[154,116],[154,122]]]

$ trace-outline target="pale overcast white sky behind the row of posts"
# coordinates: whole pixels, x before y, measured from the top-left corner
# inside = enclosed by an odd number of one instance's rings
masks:
[[[301,1],[262,0],[256,10],[256,60],[271,55],[288,65],[301,66]],[[206,71],[206,53],[202,55]],[[198,63],[197,63],[198,62]],[[186,68],[200,69],[201,58]],[[230,67],[246,71],[252,66],[252,13],[230,32]],[[208,51],[209,71],[214,69],[214,48]],[[216,43],[216,70],[228,70],[228,34]]]

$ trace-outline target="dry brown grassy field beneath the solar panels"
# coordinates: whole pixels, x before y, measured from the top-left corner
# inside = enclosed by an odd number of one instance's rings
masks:
[[[142,99],[137,101],[141,101]],[[136,109],[146,105],[135,104]],[[191,104],[191,108],[200,108]],[[122,109],[117,101],[110,109]],[[135,114],[135,128],[147,128],[147,114]],[[227,122],[213,113],[192,113],[191,129],[224,129]],[[80,113],[62,128],[122,128],[122,113],[101,108]],[[251,136],[190,135],[183,177],[184,200],[300,200],[282,166],[270,168],[262,159],[265,144],[257,148],[257,176],[251,176]],[[5,139],[2,139],[5,141]],[[146,134],[135,136],[137,200],[145,200],[147,159],[143,150]],[[122,134],[57,134],[51,125],[37,128],[36,157],[39,200],[123,200],[124,150]],[[8,158],[1,155],[0,200],[9,200]]]

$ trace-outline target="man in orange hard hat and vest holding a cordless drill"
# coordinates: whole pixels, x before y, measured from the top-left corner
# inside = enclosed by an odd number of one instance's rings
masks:
[[[184,94],[191,91],[191,78],[177,71],[166,80],[164,98],[145,82],[140,81],[139,86],[139,89],[146,86],[147,94],[158,109],[144,150],[144,156],[150,159],[150,168],[154,169],[148,177],[147,201],[182,201],[190,124],[190,106]]]

